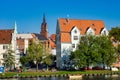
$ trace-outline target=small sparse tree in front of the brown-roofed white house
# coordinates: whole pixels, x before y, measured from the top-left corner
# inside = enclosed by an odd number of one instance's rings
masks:
[[[3,65],[5,68],[9,68],[11,70],[11,67],[13,67],[15,64],[15,56],[14,51],[11,50],[11,48],[8,48],[8,50],[3,54]]]

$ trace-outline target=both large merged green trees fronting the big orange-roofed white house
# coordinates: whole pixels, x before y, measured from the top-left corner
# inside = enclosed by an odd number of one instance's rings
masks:
[[[83,36],[71,59],[76,60],[76,65],[85,67],[89,65],[111,65],[116,61],[115,49],[106,36]]]

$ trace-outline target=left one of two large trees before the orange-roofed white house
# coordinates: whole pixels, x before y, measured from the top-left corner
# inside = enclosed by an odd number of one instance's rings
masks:
[[[76,65],[79,67],[89,67],[89,65],[100,61],[95,38],[92,35],[81,37],[77,50],[72,52],[72,57],[76,60]]]

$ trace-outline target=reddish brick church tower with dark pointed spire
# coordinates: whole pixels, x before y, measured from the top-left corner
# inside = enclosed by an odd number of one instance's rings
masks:
[[[40,35],[48,38],[48,28],[47,28],[47,23],[46,23],[45,14],[43,15],[43,22],[42,22],[42,24],[41,24]]]

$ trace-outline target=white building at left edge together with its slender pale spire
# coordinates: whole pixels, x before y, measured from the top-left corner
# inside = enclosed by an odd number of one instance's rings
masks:
[[[13,55],[15,56],[15,67],[20,66],[19,63],[19,51],[16,47],[16,35],[17,35],[17,25],[15,22],[14,29],[3,29],[0,30],[0,65],[3,65],[3,55],[11,48],[14,51]]]

